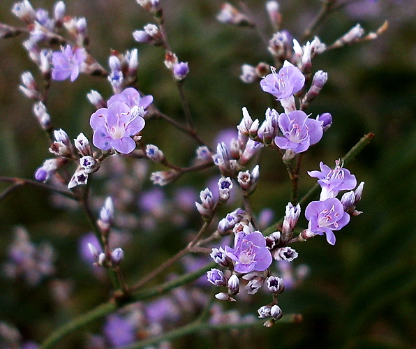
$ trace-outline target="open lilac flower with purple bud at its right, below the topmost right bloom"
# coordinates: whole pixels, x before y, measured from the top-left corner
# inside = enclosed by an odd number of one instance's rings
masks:
[[[292,149],[295,153],[306,151],[310,145],[322,138],[322,126],[319,121],[309,119],[302,110],[278,116],[278,127],[283,137],[276,136],[274,142],[281,149]]]

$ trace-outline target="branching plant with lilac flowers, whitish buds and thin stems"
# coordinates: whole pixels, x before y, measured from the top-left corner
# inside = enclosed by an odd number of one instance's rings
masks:
[[[125,52],[110,47],[90,50],[94,37],[89,36],[86,18],[68,13],[64,1],[58,1],[52,9],[38,8],[37,2],[14,3],[11,11],[20,24],[0,23],[0,36],[21,38],[23,50],[33,62],[22,72],[19,88],[22,97],[33,101],[34,116],[49,140],[48,147],[39,151],[48,150],[49,156],[38,163],[33,179],[1,177],[10,188],[0,198],[3,200],[18,186],[38,186],[50,191],[62,207],[70,207],[62,198],[72,201],[72,207],[80,207],[91,228],[74,248],[79,248],[80,261],[92,277],[97,283],[110,285],[110,292],[107,302],[73,314],[73,318],[66,314],[66,323],[56,324],[50,332],[43,329],[43,338],[37,337],[36,341],[21,334],[13,324],[0,322],[7,348],[64,348],[61,341],[81,326],[89,331],[82,348],[150,347],[160,343],[170,348],[168,341],[176,333],[172,331],[190,334],[205,329],[255,327],[259,323],[271,327],[278,320],[300,320],[299,314],[286,313],[279,305],[283,291],[295,288],[308,275],[306,265],[295,267],[294,261],[302,260],[295,245],[313,237],[334,245],[343,228],[361,213],[356,207],[362,199],[364,182],[357,185],[355,175],[348,169],[352,170],[353,165],[348,161],[373,137],[371,133],[364,136],[350,153],[333,159],[334,165],[323,163],[323,155],[315,152],[317,158],[310,158],[309,163],[315,163],[320,170],[301,167],[302,158],[310,156],[309,149],[325,138],[337,122],[337,115],[329,108],[318,113],[308,111],[331,79],[325,67],[315,66],[313,59],[330,50],[373,40],[385,27],[365,34],[357,25],[341,38],[333,38],[333,44],[327,44],[313,36],[314,24],[302,28],[303,38],[295,38],[282,27],[277,1],[267,1],[264,15],[274,31],[262,35],[269,37],[265,47],[269,59],[243,64],[240,79],[241,84],[252,84],[259,96],[268,96],[270,103],[263,105],[260,114],[265,115],[260,119],[251,117],[259,114],[258,110],[241,105],[235,110],[232,131],[226,138],[218,136],[218,142],[212,145],[202,139],[203,133],[191,112],[198,105],[190,107],[184,89],[187,77],[200,67],[193,66],[191,57],[180,57],[184,60],[181,61],[174,52],[175,43],[168,41],[165,28],[171,18],[164,11],[163,1],[137,1],[138,10],[151,23],[131,29],[133,47],[126,47]],[[318,15],[318,21],[319,18]],[[97,20],[93,17],[88,22]],[[224,3],[218,8],[216,20],[221,22],[218,26],[261,30],[246,6],[237,8]],[[18,39],[15,40],[16,43]],[[162,102],[156,98],[163,91],[140,88],[139,50],[148,50],[151,45],[164,54],[158,63],[177,89],[180,117],[168,114],[172,109],[166,107],[166,99]],[[98,56],[107,55],[107,61],[94,57],[98,49],[103,50]],[[161,73],[157,70],[151,74]],[[107,88],[100,85],[100,91],[91,89],[86,95],[91,110],[80,110],[86,122],[77,124],[86,127],[74,134],[71,131],[70,136],[60,128],[61,120],[50,113],[47,94],[59,84],[72,84],[77,89],[80,75],[84,75],[85,83],[88,79],[101,79]],[[158,132],[156,120],[164,123],[163,128],[176,128],[183,133],[183,139],[195,141],[193,156],[188,159],[191,165],[174,164],[167,144],[152,144],[150,133]],[[172,144],[178,152],[182,146],[182,139]],[[290,197],[285,198],[285,207],[252,209],[251,195],[262,180],[260,154],[268,156],[267,161],[282,161],[287,169]],[[150,163],[156,163],[158,170],[149,172]],[[174,198],[168,199],[169,188],[192,172],[201,177],[211,177],[213,173],[216,176],[211,179],[212,185],[179,187]],[[301,199],[301,174],[317,179],[320,195],[311,191]],[[94,189],[98,184],[104,192],[101,196]],[[195,219],[200,222],[199,230],[191,225]],[[142,262],[132,262],[138,257],[128,249],[132,237],[138,230],[157,235],[165,226],[163,222],[179,232],[191,231],[186,239],[181,233],[169,238],[177,239],[184,247],[164,262],[149,260],[144,266]],[[151,244],[142,248],[140,260],[147,258],[143,251],[153,248]],[[6,275],[23,280],[29,288],[40,287],[46,279],[59,276],[59,267],[54,265],[58,256],[54,246],[33,242],[30,232],[20,226],[8,246]],[[174,265],[182,265],[184,272],[168,274]],[[58,282],[57,279],[55,285]],[[213,289],[215,292],[211,292]],[[68,300],[70,295],[61,297]],[[248,303],[248,299],[252,299],[251,312],[239,313],[239,304]],[[221,305],[224,302],[233,302],[233,315]],[[101,330],[87,326],[95,320],[101,320]]]

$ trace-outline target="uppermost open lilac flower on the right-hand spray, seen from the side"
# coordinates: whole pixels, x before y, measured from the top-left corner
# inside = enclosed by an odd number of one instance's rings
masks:
[[[286,99],[299,92],[304,87],[305,77],[299,68],[285,61],[281,70],[272,70],[260,81],[263,91],[272,94],[277,100]]]

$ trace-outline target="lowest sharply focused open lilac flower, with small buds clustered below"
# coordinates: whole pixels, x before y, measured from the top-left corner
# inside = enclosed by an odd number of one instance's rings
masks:
[[[237,232],[234,244],[235,248],[226,246],[225,253],[235,261],[236,272],[262,272],[272,264],[272,254],[266,247],[266,240],[261,232]]]

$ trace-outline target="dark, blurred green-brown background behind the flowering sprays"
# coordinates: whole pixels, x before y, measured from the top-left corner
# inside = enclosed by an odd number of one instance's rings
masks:
[[[303,322],[245,330],[238,337],[228,332],[215,332],[216,336],[209,339],[202,334],[186,336],[173,342],[175,348],[210,348],[214,343],[224,348],[236,343],[240,348],[273,348],[276,343],[282,348],[410,348],[416,345],[416,228],[413,223],[416,209],[413,180],[416,176],[416,22],[413,14],[416,3],[412,0],[349,2],[350,5],[336,10],[318,27],[316,34],[323,42],[334,42],[357,22],[371,31],[388,20],[389,29],[377,40],[332,50],[314,60],[313,68],[327,71],[329,80],[309,112],[331,112],[334,124],[331,132],[304,159],[299,191],[306,193],[315,183],[305,171],[317,169],[317,159],[333,163],[364,133],[373,132],[376,138],[349,165],[357,178],[366,181],[359,207],[364,214],[343,228],[335,246],[329,246],[325,239],[311,239],[297,246],[300,257],[294,262],[295,267],[301,263],[309,265],[310,277],[291,292],[285,292],[279,305],[285,313],[302,313]],[[52,8],[53,3],[39,0],[34,1],[34,6]],[[13,1],[1,1],[0,22],[19,26],[17,18],[10,14],[12,5]],[[218,142],[218,133],[226,128],[235,130],[242,106],[255,118],[262,116],[269,105],[269,96],[258,84],[244,84],[239,80],[242,64],[273,63],[267,47],[253,29],[216,21],[220,5],[219,1],[203,0],[163,2],[170,44],[180,59],[188,61],[191,70],[184,89],[195,115],[195,125],[201,138],[212,147]],[[67,1],[66,6],[67,13],[89,20],[91,54],[102,64],[106,64],[110,54],[103,47],[120,52],[138,47],[140,89],[154,96],[158,108],[165,114],[181,117],[181,104],[171,73],[161,68],[163,50],[138,44],[131,36],[132,31],[152,22],[149,13],[133,0],[73,0]],[[302,36],[305,24],[313,21],[320,6],[320,1],[281,1],[283,29],[295,37]],[[265,3],[246,1],[243,8],[248,9],[250,20],[269,38],[274,29],[266,20]],[[32,116],[31,101],[17,89],[22,70],[36,71],[20,40],[19,37],[0,40],[0,174],[32,178],[36,168],[48,157],[48,140]],[[89,132],[89,115],[94,107],[85,96],[91,89],[110,96],[107,82],[80,75],[76,87],[69,82],[52,84],[47,98],[54,124],[63,128],[70,138],[81,131]],[[188,159],[193,156],[195,141],[163,121],[149,123],[143,135],[177,165],[188,165]],[[126,175],[126,166],[135,174],[134,180]],[[215,170],[207,170],[206,176],[186,174],[162,190],[149,181],[147,167],[151,171],[163,169],[159,165],[125,162],[112,156],[103,163],[93,184],[96,212],[107,195],[117,193],[117,198],[122,199],[119,202],[124,206],[116,207],[115,226],[119,232],[114,234],[117,238],[114,247],[124,248],[124,268],[129,271],[127,281],[144,276],[149,265],[161,264],[184,247],[189,233],[198,230],[200,225],[193,202],[198,200],[199,191],[207,186],[210,177],[218,178]],[[267,161],[260,159],[260,168],[262,181],[253,194],[253,211],[269,207],[279,217],[290,198],[287,172],[278,158],[276,161],[269,161],[269,157]],[[114,174],[119,174],[118,182],[105,181],[105,176]],[[0,184],[0,188],[3,190],[6,186]],[[0,227],[1,335],[19,337],[22,346],[29,340],[40,342],[57,324],[64,324],[107,299],[105,277],[91,262],[84,261],[85,253],[78,248],[80,239],[85,239],[91,228],[87,217],[73,202],[41,188],[19,188],[1,202]],[[128,232],[131,227],[134,227],[133,233]],[[13,269],[13,252],[10,252],[15,246],[15,236],[26,236],[25,229],[29,232],[25,245],[27,258],[45,258],[45,269],[36,269],[29,276],[19,274],[18,268]],[[176,265],[169,272],[181,271],[181,265]],[[180,305],[180,295],[175,297],[166,298],[165,305],[154,305],[171,310],[166,318],[158,319],[161,322],[184,321],[175,318],[174,306],[166,305],[169,302]],[[193,309],[198,309],[196,293],[192,302],[195,302]],[[239,311],[253,313],[253,307],[258,304],[240,304]],[[117,346],[112,341],[112,326],[117,321],[125,321],[129,314],[139,313],[128,311],[105,322],[94,322],[82,331],[83,336],[68,337],[61,348],[79,348],[87,336],[101,334],[102,328],[102,336],[89,338],[91,348],[94,340],[98,348],[100,343]],[[136,319],[135,323],[140,321],[143,320]],[[131,326],[133,322],[128,323]],[[158,333],[158,329],[147,331]]]

